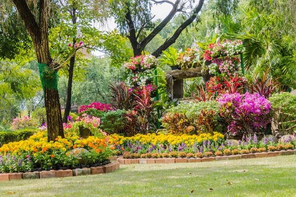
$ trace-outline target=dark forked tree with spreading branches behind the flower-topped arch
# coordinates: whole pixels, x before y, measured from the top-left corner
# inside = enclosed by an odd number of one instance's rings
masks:
[[[167,3],[172,6],[170,13],[156,26],[153,26],[151,6],[154,4]],[[176,16],[178,12],[186,13],[188,18],[175,30],[171,37],[167,38],[152,55],[158,57],[163,50],[172,45],[179,35],[188,27],[198,16],[204,0],[199,0],[193,7],[191,0],[112,0],[111,6],[121,33],[124,33],[133,48],[134,56],[141,55],[146,45]],[[191,11],[188,12],[188,7]],[[146,31],[149,31],[146,35]]]

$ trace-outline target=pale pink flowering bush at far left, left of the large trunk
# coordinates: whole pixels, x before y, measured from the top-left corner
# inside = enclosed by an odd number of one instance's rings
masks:
[[[38,121],[34,118],[24,116],[21,118],[13,119],[10,126],[13,131],[21,130],[21,129],[37,129]]]

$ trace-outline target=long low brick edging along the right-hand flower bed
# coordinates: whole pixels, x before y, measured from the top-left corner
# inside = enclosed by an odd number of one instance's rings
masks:
[[[117,158],[117,162],[120,164],[174,164],[174,163],[197,163],[197,162],[212,162],[222,160],[239,160],[239,159],[252,159],[252,158],[266,158],[277,157],[286,155],[296,155],[295,150],[282,150],[274,152],[263,153],[249,153],[229,156],[216,156],[216,157],[204,157],[204,158],[139,158],[139,159],[123,159],[122,156]]]

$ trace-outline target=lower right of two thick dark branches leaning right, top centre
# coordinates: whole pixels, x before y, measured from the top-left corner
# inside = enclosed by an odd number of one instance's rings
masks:
[[[162,51],[166,50],[169,46],[176,42],[176,39],[179,37],[182,31],[186,27],[188,27],[194,21],[194,19],[196,19],[197,14],[201,10],[203,3],[204,0],[199,0],[198,5],[194,8],[194,11],[191,14],[191,16],[176,30],[172,37],[167,39],[158,49],[156,49],[156,51],[152,53],[153,56],[159,57]]]

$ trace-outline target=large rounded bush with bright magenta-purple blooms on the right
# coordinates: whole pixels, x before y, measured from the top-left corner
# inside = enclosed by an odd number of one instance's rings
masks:
[[[222,122],[232,134],[258,132],[271,122],[270,101],[259,94],[224,94],[218,101]]]

